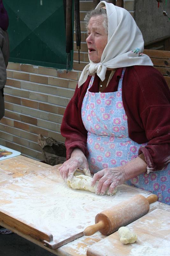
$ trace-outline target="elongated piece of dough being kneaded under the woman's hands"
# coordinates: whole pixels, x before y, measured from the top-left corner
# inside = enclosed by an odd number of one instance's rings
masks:
[[[98,181],[96,182],[95,186],[93,186],[93,187],[91,186],[91,182],[92,182],[92,177],[89,177],[86,175],[73,176],[73,178],[71,180],[67,179],[67,185],[69,188],[87,190],[87,191],[95,193]],[[111,194],[108,192],[108,189],[107,189],[105,191],[105,194],[112,196],[112,195],[116,194],[116,192],[117,192],[117,188],[115,188]]]

